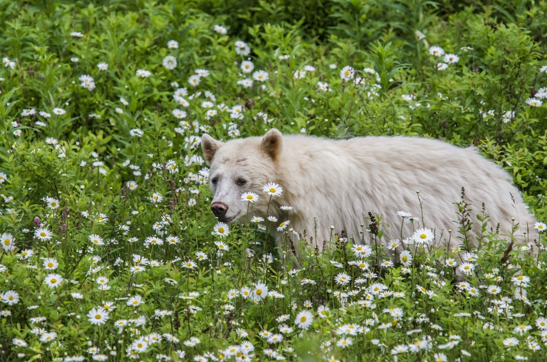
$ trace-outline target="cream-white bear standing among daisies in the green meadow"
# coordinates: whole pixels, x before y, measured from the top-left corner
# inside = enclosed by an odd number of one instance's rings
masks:
[[[335,232],[345,230],[354,243],[360,243],[360,231],[370,223],[365,221],[369,212],[381,214],[391,226],[383,240],[400,238],[402,218],[397,211],[405,211],[418,218],[414,224],[404,223],[403,237],[425,226],[447,246],[447,231],[455,230],[448,246],[452,247],[461,243],[456,238],[459,225],[453,220],[458,218],[455,202],[461,200],[464,187],[465,201],[473,208],[474,231],[480,230],[476,215],[484,203],[491,217],[489,230],[499,223],[500,233],[509,234],[518,223],[516,235],[526,232],[526,240],[533,240],[536,219],[509,174],[473,148],[420,137],[331,140],[282,135],[276,129],[264,137],[225,143],[205,134],[201,147],[211,165],[211,209],[226,223],[273,215],[278,223],[289,220],[289,227],[300,234],[306,230],[307,238],[313,237],[321,248],[330,238],[331,225]],[[270,196],[263,192],[266,183],[283,188],[280,196],[271,197],[271,205]],[[423,203],[423,220],[416,191]],[[241,199],[243,192],[259,195],[249,211],[248,202]],[[281,206],[294,209],[283,211]]]

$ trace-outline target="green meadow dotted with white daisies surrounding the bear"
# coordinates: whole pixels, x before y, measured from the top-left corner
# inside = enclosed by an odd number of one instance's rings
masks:
[[[0,0],[0,33],[0,360],[547,361],[546,1]],[[202,135],[272,128],[474,147],[538,222],[219,222]]]

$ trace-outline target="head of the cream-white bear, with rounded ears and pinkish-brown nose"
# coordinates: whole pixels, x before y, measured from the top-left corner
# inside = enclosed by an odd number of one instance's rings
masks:
[[[282,149],[282,135],[271,129],[263,137],[248,137],[220,142],[203,135],[201,149],[208,165],[209,187],[213,192],[211,211],[219,221],[229,223],[241,220],[253,213],[265,214],[269,196],[262,189],[276,182],[277,162]],[[241,195],[245,192],[257,194],[258,201],[249,205]]]

